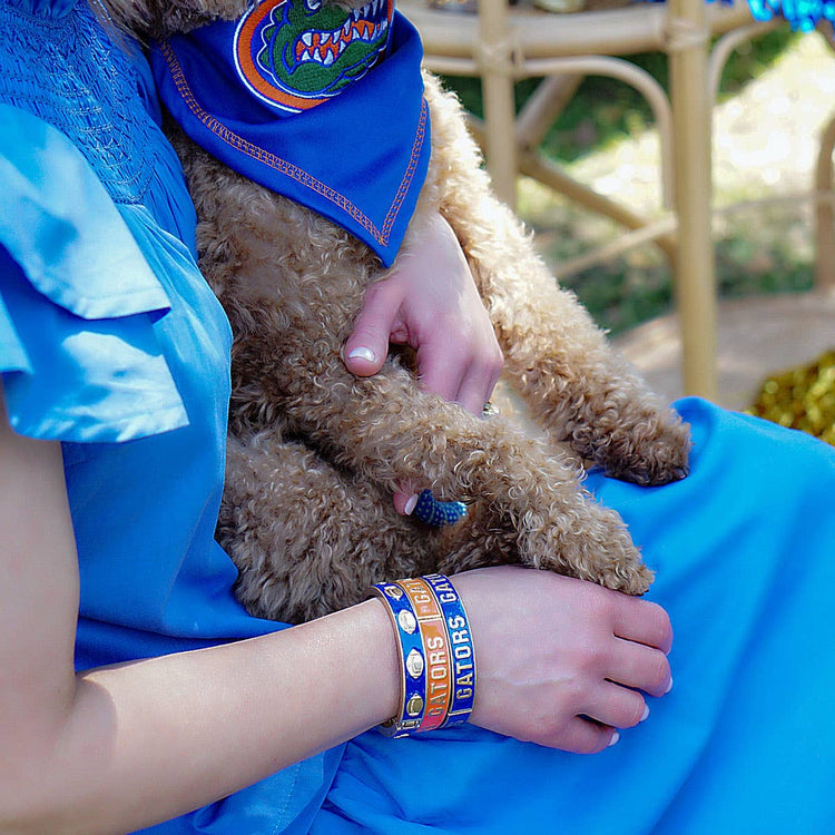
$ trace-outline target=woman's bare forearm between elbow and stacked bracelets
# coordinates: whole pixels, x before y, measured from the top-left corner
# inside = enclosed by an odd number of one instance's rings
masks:
[[[20,764],[30,779],[7,786],[13,802],[0,829],[92,835],[167,819],[383,721],[397,697],[377,601],[264,638],[92,670],[78,677],[55,746],[33,746],[38,762]]]

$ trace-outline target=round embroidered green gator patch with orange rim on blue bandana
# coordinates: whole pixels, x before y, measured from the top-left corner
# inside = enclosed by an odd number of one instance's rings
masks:
[[[249,90],[299,112],[362,78],[383,56],[394,0],[348,10],[322,0],[264,0],[235,31],[235,65]]]

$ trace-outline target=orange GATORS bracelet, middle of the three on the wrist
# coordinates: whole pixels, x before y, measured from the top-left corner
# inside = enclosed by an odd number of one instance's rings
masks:
[[[399,580],[397,586],[412,601],[426,658],[426,708],[418,730],[435,730],[449,713],[452,684],[450,639],[443,612],[432,589],[421,578]]]

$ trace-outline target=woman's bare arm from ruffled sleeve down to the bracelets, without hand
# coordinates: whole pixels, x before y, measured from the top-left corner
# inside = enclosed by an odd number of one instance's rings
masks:
[[[78,569],[58,443],[0,414],[0,831],[124,833],[394,715],[369,601],[230,646],[75,675]]]

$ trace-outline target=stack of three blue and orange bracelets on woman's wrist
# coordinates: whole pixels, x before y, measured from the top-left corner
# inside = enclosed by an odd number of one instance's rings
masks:
[[[381,726],[394,737],[466,721],[475,696],[470,623],[443,574],[377,583],[397,635],[402,670],[397,714]]]

